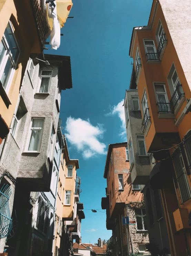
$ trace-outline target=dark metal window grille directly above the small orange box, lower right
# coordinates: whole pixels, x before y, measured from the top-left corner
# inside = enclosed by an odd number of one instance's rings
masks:
[[[177,188],[181,204],[191,198],[190,186],[185,169],[185,160],[183,160],[182,155],[184,155],[184,152],[183,150],[181,151],[180,148],[176,149],[172,155],[175,168],[174,183],[175,187]]]

